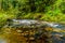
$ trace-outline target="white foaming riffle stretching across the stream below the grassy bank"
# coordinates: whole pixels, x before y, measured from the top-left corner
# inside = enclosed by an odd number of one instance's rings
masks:
[[[9,22],[9,20],[8,20]],[[42,32],[42,29],[51,30],[55,32],[61,32],[65,30],[65,25],[58,24],[58,23],[49,23],[49,22],[42,22],[42,20],[35,20],[35,19],[12,19],[8,23],[5,27],[11,28],[24,28],[23,30],[37,30],[39,32]],[[48,28],[50,27],[50,28]]]

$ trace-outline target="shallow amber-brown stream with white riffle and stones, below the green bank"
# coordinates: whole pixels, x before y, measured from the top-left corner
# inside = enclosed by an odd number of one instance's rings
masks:
[[[47,40],[50,39],[54,41],[52,43],[64,43],[63,41],[65,41],[65,39],[63,39],[65,38],[63,37],[65,31],[61,32],[61,30],[63,31],[65,29],[65,25],[62,24],[31,19],[13,19],[10,24],[10,26],[4,26],[5,28],[2,29],[2,35],[6,38],[8,41],[10,40],[10,43],[49,43]],[[50,32],[50,35],[48,34],[49,31],[46,31],[47,28],[51,28],[52,32]],[[0,39],[0,43],[8,42],[4,39]]]

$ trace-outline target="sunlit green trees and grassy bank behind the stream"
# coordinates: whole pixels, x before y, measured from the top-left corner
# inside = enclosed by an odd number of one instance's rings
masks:
[[[0,25],[13,18],[65,22],[65,0],[0,0]]]

